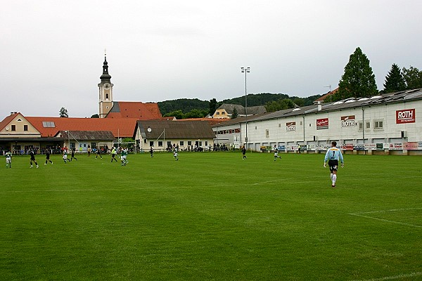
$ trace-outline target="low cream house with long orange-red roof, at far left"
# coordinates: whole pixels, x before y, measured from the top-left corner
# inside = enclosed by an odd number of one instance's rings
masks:
[[[0,122],[0,151],[18,153],[34,148],[42,153],[46,149],[68,147],[86,152],[100,143],[132,138],[137,121],[137,118],[25,117],[20,112],[11,112]]]

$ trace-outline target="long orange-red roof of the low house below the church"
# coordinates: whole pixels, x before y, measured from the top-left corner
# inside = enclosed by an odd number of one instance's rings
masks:
[[[65,118],[25,117],[41,137],[55,136],[58,131],[111,131],[115,138],[132,138],[136,118]],[[54,128],[45,128],[42,122],[54,122]]]

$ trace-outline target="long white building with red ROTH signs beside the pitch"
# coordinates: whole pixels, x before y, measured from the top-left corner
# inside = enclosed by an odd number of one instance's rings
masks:
[[[416,89],[236,118],[212,129],[216,143],[255,151],[301,145],[319,152],[337,141],[355,153],[422,155],[421,116],[422,89]]]

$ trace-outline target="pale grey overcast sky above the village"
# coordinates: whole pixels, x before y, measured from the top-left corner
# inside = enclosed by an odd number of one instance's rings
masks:
[[[2,1],[0,120],[98,113],[104,49],[114,100],[217,101],[335,89],[358,46],[378,89],[422,70],[422,1]]]

